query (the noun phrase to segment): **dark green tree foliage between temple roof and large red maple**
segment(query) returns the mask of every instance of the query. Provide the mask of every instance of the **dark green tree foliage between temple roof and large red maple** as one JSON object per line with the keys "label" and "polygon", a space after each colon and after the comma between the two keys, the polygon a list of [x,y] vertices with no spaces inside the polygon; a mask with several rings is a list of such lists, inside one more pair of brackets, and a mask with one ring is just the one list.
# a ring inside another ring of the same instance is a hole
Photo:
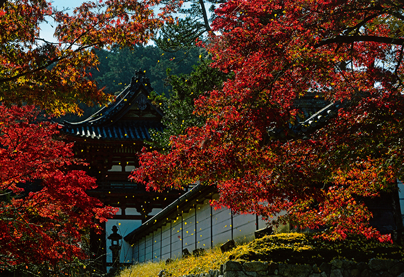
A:
{"label": "dark green tree foliage between temple roof and large red maple", "polygon": [[150,130],[155,146],[166,150],[171,136],[183,134],[188,127],[205,124],[205,117],[193,113],[194,100],[214,89],[221,89],[223,82],[231,76],[210,67],[210,63],[208,60],[200,60],[190,74],[171,75],[171,71],[167,71],[166,81],[172,86],[170,97],[158,94],[151,96],[156,105],[162,106],[165,114],[162,123],[167,127],[164,132]]}

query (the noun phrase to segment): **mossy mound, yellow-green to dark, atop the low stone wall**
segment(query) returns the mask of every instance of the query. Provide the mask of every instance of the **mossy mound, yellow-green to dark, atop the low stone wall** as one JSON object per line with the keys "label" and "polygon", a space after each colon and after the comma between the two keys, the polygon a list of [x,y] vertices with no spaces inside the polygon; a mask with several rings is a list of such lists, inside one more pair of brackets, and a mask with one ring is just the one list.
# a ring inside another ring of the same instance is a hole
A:
{"label": "mossy mound, yellow-green to dark, atop the low stone wall", "polygon": [[404,250],[395,244],[359,236],[350,236],[344,241],[325,241],[314,238],[313,234],[288,233],[266,236],[239,246],[229,257],[233,260],[310,264],[330,262],[335,258],[357,262],[367,262],[371,258],[403,259]]}

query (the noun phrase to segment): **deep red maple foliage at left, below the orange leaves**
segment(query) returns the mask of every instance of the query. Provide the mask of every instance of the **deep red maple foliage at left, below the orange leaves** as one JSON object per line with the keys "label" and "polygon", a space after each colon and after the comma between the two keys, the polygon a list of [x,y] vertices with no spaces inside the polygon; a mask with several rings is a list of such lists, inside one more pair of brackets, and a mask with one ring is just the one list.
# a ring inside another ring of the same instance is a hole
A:
{"label": "deep red maple foliage at left, below the orange leaves", "polygon": [[72,144],[40,119],[33,106],[0,105],[0,269],[88,258],[83,235],[115,213],[86,194],[95,180],[70,170]]}

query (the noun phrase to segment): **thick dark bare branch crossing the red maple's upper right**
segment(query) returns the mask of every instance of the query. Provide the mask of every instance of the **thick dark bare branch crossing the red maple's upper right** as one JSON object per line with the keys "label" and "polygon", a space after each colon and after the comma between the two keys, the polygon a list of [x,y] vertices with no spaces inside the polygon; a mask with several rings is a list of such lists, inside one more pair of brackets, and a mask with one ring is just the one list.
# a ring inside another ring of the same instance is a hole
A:
{"label": "thick dark bare branch crossing the red maple's upper right", "polygon": [[404,38],[392,38],[392,37],[383,37],[383,36],[336,36],[334,38],[327,38],[323,41],[316,43],[314,45],[315,48],[332,44],[332,43],[353,43],[353,42],[380,42],[385,44],[394,44],[394,45],[403,45]]}

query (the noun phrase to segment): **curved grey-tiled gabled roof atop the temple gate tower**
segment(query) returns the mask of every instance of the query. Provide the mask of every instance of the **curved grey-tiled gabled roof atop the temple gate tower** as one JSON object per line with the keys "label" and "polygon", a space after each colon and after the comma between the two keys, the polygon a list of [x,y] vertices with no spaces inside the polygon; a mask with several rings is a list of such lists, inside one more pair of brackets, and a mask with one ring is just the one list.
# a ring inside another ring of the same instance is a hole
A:
{"label": "curved grey-tiled gabled roof atop the temple gate tower", "polygon": [[148,99],[153,91],[141,70],[117,97],[81,122],[63,122],[62,131],[70,136],[98,140],[149,140],[149,129],[163,131],[163,112]]}

